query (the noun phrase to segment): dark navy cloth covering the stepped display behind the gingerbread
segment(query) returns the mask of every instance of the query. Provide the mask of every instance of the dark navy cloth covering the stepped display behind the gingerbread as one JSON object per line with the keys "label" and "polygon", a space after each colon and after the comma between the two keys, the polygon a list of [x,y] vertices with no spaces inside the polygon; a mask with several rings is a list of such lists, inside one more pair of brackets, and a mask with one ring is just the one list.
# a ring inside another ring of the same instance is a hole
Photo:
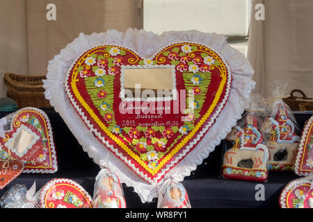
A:
{"label": "dark navy cloth covering the stepped display behind the gingerbread", "polygon": [[[54,109],[44,110],[54,133],[54,143],[58,158],[58,171],[53,174],[22,173],[0,191],[0,196],[15,184],[25,184],[27,189],[36,182],[37,190],[53,178],[67,178],[79,183],[90,196],[93,196],[95,176],[99,167],[87,153],[83,151],[77,139],[72,135],[67,125]],[[9,112],[0,112],[0,118]],[[303,125],[311,114],[295,114],[302,130]],[[295,173],[269,173],[268,182],[264,185],[265,200],[256,200],[255,194],[259,182],[240,180],[225,180],[220,178],[220,166],[223,156],[223,142],[216,146],[200,166],[184,179],[182,184],[188,192],[192,207],[266,207],[278,208],[280,192],[288,182],[298,178]],[[132,187],[123,184],[127,207],[157,207],[157,198],[152,203],[142,203]]]}

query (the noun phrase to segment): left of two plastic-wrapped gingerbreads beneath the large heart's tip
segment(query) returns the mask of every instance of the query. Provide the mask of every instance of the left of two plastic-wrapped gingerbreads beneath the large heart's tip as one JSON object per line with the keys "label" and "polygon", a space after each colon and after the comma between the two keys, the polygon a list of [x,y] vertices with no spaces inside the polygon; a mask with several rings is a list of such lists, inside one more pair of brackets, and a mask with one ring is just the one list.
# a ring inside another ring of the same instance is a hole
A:
{"label": "left of two plastic-wrapped gingerbreads beneath the large heart's tip", "polygon": [[94,208],[126,208],[120,179],[109,169],[102,169],[95,180]]}

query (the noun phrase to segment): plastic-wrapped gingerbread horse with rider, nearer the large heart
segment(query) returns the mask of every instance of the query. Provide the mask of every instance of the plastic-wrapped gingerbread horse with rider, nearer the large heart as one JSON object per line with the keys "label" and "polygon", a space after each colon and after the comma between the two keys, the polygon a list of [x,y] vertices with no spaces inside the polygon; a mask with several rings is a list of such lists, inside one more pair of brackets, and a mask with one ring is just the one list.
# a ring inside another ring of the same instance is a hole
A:
{"label": "plastic-wrapped gingerbread horse with rider, nearer the large heart", "polygon": [[264,99],[252,95],[250,108],[243,114],[224,142],[223,178],[266,182],[268,178],[268,148],[259,130],[264,113]]}

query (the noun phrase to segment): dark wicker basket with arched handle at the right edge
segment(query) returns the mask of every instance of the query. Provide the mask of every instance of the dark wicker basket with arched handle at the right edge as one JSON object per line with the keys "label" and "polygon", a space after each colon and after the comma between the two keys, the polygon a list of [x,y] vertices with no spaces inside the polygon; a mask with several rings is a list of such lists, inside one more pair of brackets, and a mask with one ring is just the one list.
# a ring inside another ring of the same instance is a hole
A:
{"label": "dark wicker basket with arched handle at the right edge", "polygon": [[[302,97],[294,96],[295,92],[302,94]],[[291,91],[290,96],[284,99],[284,102],[290,106],[293,111],[312,111],[313,110],[313,98],[309,98],[300,89],[294,89]]]}

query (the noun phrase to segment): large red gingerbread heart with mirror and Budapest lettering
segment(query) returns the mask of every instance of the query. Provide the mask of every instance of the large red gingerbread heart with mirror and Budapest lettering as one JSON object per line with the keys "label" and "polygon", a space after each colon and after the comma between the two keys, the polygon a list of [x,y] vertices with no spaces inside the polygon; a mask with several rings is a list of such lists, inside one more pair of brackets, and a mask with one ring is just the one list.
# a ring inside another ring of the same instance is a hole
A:
{"label": "large red gingerbread heart with mirror and Budapest lettering", "polygon": [[[95,137],[153,183],[183,160],[214,124],[231,81],[216,51],[182,42],[163,47],[150,59],[122,46],[93,47],[74,61],[65,86]],[[136,94],[142,92],[134,89],[136,83],[170,93],[143,98]]]}

